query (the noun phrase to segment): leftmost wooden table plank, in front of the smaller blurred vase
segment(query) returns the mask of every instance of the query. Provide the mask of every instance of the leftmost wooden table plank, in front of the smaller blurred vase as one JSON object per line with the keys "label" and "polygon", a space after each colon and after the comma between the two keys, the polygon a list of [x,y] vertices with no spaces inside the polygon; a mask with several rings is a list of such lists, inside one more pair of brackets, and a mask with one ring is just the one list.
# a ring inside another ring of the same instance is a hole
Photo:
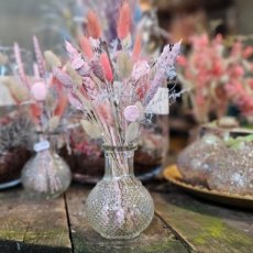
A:
{"label": "leftmost wooden table plank, in front of the smaller blurred vase", "polygon": [[72,252],[65,201],[0,194],[0,252]]}

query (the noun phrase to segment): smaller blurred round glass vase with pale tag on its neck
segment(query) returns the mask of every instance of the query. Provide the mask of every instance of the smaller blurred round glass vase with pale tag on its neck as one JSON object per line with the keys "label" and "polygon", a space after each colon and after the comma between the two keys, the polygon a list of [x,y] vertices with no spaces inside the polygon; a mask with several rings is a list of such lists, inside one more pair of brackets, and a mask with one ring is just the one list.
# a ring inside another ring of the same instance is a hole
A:
{"label": "smaller blurred round glass vase with pale tag on its neck", "polygon": [[56,153],[57,136],[38,133],[38,142],[34,145],[36,153],[22,169],[22,185],[34,196],[55,198],[70,185],[70,169]]}

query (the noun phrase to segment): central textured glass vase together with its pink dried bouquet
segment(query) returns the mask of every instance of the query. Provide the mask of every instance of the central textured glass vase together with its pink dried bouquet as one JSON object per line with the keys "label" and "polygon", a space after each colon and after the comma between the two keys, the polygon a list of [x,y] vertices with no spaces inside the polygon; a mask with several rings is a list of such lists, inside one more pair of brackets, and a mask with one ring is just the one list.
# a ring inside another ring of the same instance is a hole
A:
{"label": "central textured glass vase together with its pink dried bouquet", "polygon": [[69,65],[64,73],[54,68],[65,85],[69,102],[84,112],[82,125],[91,138],[101,138],[106,173],[87,198],[90,226],[109,239],[131,239],[152,221],[154,204],[133,174],[133,155],[140,136],[140,123],[153,113],[168,113],[169,96],[162,88],[175,77],[174,63],[179,45],[165,46],[155,62],[142,55],[142,42],[130,35],[131,11],[127,2],[120,9],[118,38],[110,45],[102,40],[97,15],[87,16],[88,36],[80,50],[66,42]]}

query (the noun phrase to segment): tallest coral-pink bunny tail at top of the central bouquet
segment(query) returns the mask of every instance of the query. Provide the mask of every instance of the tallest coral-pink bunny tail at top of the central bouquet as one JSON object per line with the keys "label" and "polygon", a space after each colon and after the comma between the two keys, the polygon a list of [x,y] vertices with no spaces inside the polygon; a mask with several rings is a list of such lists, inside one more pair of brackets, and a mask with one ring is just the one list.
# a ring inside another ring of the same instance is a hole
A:
{"label": "tallest coral-pink bunny tail at top of the central bouquet", "polygon": [[117,33],[120,40],[125,38],[129,35],[131,25],[131,13],[129,3],[124,2],[120,9]]}

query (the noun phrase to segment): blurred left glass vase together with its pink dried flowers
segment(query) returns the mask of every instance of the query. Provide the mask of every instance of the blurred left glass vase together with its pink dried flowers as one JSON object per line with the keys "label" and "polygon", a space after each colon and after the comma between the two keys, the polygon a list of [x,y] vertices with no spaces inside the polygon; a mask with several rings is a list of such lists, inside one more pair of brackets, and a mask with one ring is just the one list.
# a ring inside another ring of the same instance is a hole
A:
{"label": "blurred left glass vase together with its pink dried flowers", "polygon": [[64,119],[68,99],[63,84],[52,73],[52,67],[64,69],[61,61],[51,51],[46,51],[43,57],[35,36],[33,44],[36,57],[33,76],[26,75],[20,47],[15,43],[16,79],[9,79],[7,85],[16,103],[26,105],[37,135],[33,146],[35,154],[21,173],[22,185],[32,195],[53,198],[64,193],[72,179],[68,165],[55,150],[58,133],[66,130]]}

